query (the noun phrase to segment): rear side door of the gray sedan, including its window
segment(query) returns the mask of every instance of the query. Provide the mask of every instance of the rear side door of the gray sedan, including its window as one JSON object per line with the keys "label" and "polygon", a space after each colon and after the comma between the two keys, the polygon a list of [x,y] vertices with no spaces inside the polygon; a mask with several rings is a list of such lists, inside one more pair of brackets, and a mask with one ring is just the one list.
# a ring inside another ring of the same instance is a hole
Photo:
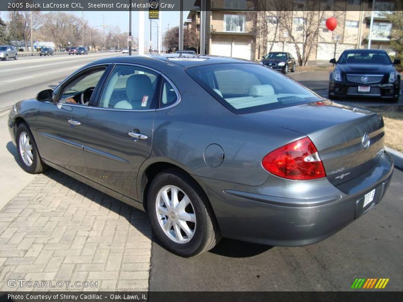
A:
{"label": "rear side door of the gray sedan, including its window", "polygon": [[139,168],[151,155],[160,77],[146,67],[116,64],[86,119],[90,179],[135,200]]}

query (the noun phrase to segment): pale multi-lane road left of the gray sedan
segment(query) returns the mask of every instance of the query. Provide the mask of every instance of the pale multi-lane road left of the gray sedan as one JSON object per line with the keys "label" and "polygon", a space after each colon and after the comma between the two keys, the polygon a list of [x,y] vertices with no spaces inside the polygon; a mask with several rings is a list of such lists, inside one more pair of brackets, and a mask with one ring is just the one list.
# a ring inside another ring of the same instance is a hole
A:
{"label": "pale multi-lane road left of the gray sedan", "polygon": [[0,109],[35,97],[41,90],[54,88],[75,70],[94,60],[122,55],[120,52],[89,55],[24,57],[0,61]]}

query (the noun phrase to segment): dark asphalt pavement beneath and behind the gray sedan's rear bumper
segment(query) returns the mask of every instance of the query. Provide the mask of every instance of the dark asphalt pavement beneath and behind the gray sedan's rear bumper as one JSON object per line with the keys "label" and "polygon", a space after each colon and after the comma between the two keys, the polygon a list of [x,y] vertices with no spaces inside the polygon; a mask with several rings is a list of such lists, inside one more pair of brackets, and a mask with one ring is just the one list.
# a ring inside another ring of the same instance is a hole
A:
{"label": "dark asphalt pavement beneath and behind the gray sedan's rear bumper", "polygon": [[355,278],[390,278],[387,290],[403,290],[402,183],[403,173],[395,170],[375,208],[310,246],[268,247],[224,239],[210,252],[181,258],[154,238],[150,290],[345,291]]}

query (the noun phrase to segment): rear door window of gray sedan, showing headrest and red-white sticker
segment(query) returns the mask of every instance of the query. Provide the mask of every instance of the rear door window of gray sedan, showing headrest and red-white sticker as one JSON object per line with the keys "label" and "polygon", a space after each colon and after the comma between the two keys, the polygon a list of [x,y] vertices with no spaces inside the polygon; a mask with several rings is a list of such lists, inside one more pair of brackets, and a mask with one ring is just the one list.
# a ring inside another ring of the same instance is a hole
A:
{"label": "rear door window of gray sedan, showing headrest and red-white sticker", "polygon": [[138,66],[116,65],[102,92],[99,107],[124,110],[156,108],[159,75]]}

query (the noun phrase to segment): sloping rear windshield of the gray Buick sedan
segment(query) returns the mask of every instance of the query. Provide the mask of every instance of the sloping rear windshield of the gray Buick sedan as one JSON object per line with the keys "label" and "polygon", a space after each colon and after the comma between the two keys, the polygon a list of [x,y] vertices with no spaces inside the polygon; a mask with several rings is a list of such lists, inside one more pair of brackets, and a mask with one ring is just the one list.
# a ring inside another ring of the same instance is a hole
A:
{"label": "sloping rear windshield of the gray Buick sedan", "polygon": [[322,99],[280,72],[258,64],[201,65],[189,67],[186,71],[201,87],[236,114]]}

